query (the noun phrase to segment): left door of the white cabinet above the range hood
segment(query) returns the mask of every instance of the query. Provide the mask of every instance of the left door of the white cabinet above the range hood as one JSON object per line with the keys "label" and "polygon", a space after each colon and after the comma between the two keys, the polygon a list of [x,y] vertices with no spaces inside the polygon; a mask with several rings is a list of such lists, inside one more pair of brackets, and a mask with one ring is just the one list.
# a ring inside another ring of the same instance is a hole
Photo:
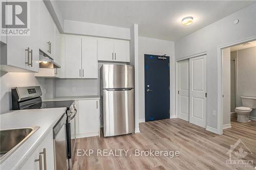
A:
{"label": "left door of the white cabinet above the range hood", "polygon": [[39,48],[43,52],[50,55],[50,45],[49,45],[49,20],[50,14],[43,1],[39,1]]}

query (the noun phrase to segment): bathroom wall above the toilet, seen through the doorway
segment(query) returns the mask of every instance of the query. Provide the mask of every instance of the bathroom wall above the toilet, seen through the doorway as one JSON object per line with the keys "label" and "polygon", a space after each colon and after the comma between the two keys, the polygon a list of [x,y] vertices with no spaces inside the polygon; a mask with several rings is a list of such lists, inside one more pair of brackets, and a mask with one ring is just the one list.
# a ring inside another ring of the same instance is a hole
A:
{"label": "bathroom wall above the toilet, seen through the doorway", "polygon": [[[238,95],[237,106],[242,106],[240,96],[256,97],[256,47],[239,50],[238,60]],[[256,118],[256,109],[250,116]]]}

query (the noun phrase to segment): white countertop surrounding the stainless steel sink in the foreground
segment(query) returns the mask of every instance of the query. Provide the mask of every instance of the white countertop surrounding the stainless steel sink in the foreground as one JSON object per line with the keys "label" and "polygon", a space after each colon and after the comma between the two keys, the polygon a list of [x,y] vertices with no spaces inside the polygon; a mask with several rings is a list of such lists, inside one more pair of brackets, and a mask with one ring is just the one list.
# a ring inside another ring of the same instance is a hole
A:
{"label": "white countertop surrounding the stainless steel sink in the foreground", "polygon": [[10,111],[0,115],[0,129],[24,128],[39,126],[20,147],[14,151],[4,162],[0,169],[19,169],[33,154],[40,142],[48,135],[65,113],[67,108],[32,109]]}

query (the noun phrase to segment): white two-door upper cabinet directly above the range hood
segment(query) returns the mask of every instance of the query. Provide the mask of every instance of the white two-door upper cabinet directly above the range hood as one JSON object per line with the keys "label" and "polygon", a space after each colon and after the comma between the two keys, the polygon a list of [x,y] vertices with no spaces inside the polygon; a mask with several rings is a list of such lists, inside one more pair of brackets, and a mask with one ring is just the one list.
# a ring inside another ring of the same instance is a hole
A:
{"label": "white two-door upper cabinet directly above the range hood", "polygon": [[39,48],[51,58],[54,58],[54,33],[55,27],[53,19],[45,3],[39,1]]}

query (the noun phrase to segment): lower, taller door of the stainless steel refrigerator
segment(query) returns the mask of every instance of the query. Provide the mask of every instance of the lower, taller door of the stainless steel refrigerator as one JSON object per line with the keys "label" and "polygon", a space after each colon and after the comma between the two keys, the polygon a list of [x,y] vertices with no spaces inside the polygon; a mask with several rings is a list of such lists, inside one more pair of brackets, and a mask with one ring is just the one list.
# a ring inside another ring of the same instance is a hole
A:
{"label": "lower, taller door of the stainless steel refrigerator", "polygon": [[104,136],[135,132],[134,89],[103,90]]}

